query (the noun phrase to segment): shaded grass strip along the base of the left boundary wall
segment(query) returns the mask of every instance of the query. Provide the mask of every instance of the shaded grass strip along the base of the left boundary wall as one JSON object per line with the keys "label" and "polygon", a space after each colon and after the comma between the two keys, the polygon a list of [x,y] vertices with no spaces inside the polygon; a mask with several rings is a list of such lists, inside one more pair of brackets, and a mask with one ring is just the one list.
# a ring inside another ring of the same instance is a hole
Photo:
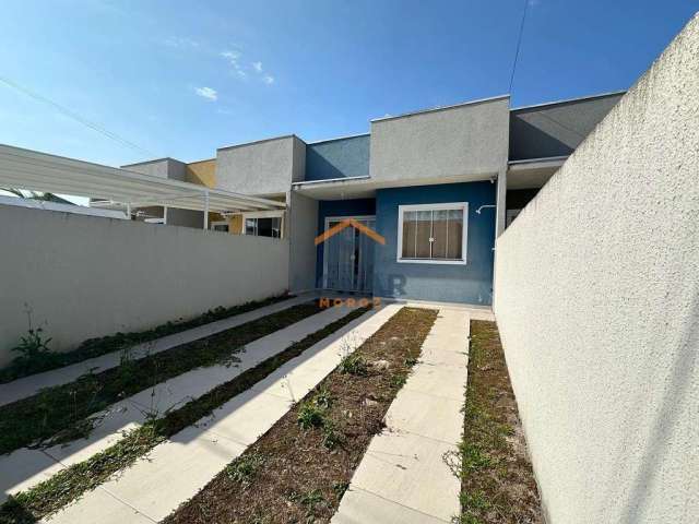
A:
{"label": "shaded grass strip along the base of the left boundary wall", "polygon": [[264,300],[254,300],[229,308],[220,306],[192,319],[178,319],[176,321],[157,325],[151,330],[134,331],[130,333],[115,333],[109,336],[88,338],[72,352],[44,352],[42,353],[40,358],[25,358],[21,356],[15,358],[10,366],[0,369],[0,384],[12,382],[13,380],[22,379],[31,374],[62,368],[63,366],[70,366],[71,364],[82,362],[88,358],[99,357],[107,353],[118,352],[126,347],[135,346],[137,344],[151,342],[163,336],[191,330],[192,327],[227,319],[236,314],[246,313],[289,298],[292,298],[292,295],[280,295],[276,297],[265,298]]}

